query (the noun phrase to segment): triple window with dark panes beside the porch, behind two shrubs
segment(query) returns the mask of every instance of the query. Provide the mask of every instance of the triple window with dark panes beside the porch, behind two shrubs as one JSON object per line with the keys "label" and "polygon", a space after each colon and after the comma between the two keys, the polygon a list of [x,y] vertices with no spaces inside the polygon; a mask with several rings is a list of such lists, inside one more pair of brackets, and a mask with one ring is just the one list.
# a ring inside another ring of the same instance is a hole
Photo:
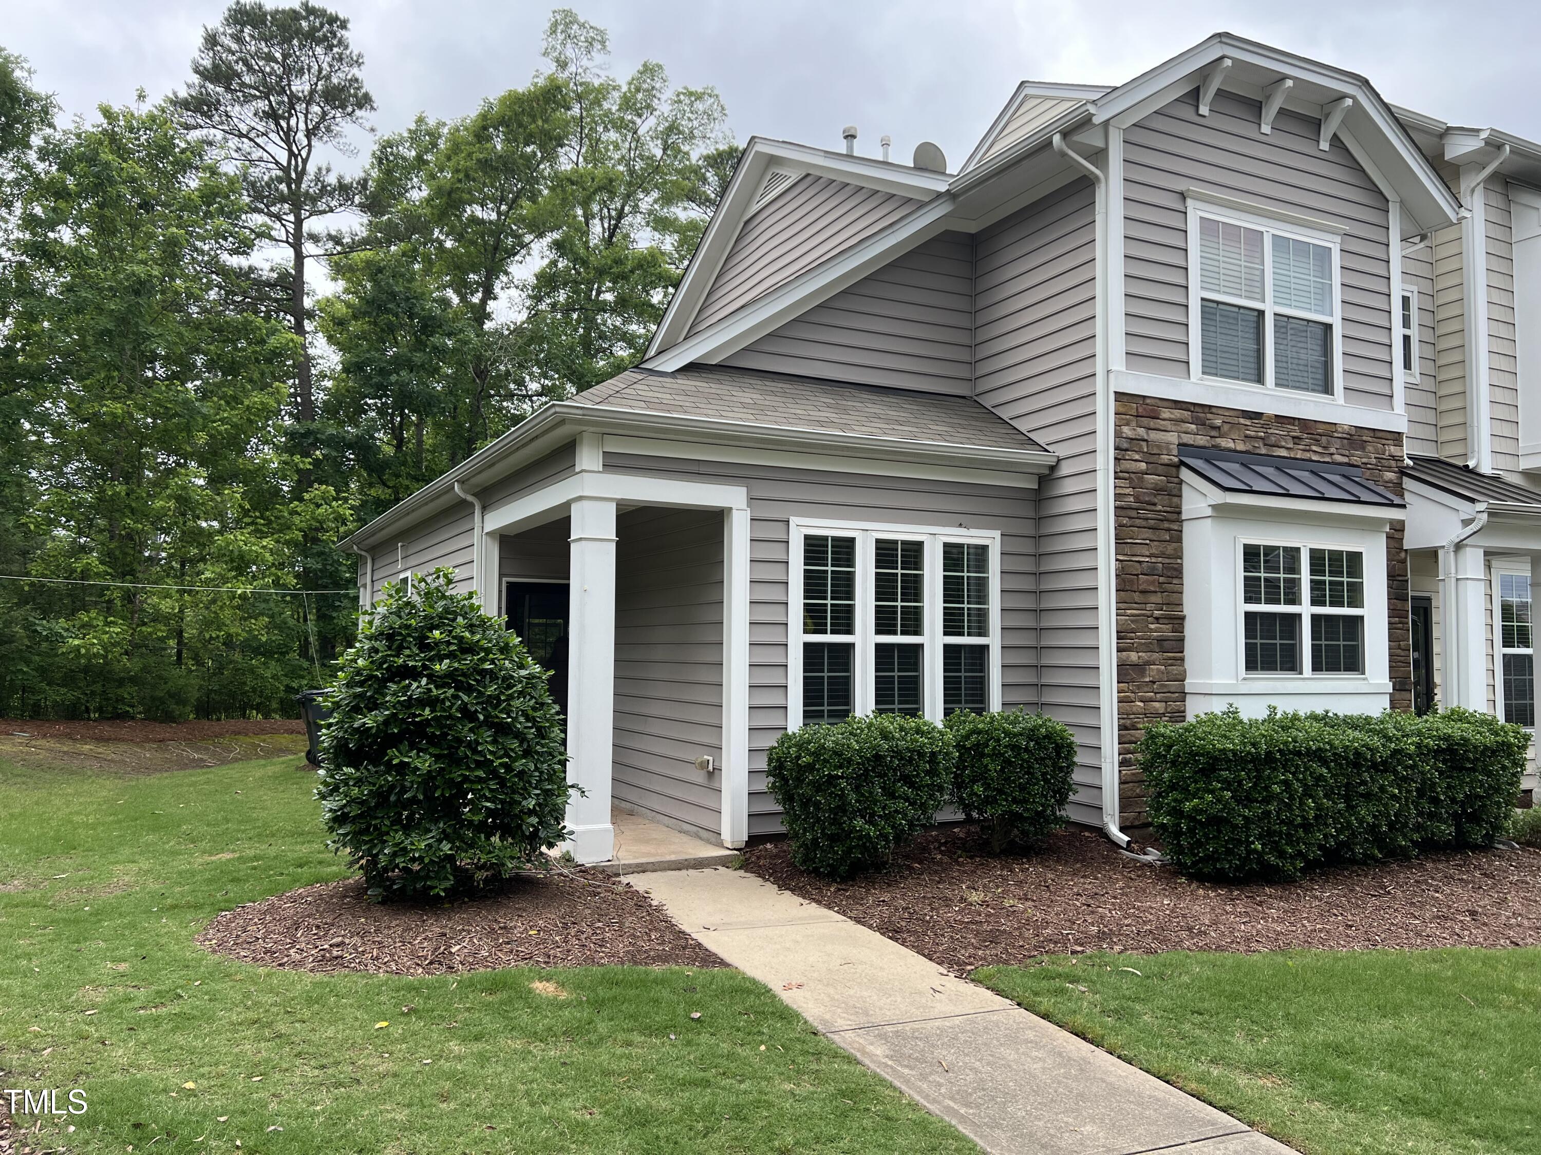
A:
{"label": "triple window with dark panes beside the porch, behind two shrubs", "polygon": [[792,522],[792,725],[999,708],[999,537]]}

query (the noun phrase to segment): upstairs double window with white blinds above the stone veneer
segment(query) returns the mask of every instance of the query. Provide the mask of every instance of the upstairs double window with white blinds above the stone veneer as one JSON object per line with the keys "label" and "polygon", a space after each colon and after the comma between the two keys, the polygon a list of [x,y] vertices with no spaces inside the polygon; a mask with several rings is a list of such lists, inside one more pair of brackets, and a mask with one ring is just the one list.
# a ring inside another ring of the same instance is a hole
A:
{"label": "upstairs double window with white blinds above the stone veneer", "polygon": [[1190,200],[1199,379],[1339,396],[1338,239]]}

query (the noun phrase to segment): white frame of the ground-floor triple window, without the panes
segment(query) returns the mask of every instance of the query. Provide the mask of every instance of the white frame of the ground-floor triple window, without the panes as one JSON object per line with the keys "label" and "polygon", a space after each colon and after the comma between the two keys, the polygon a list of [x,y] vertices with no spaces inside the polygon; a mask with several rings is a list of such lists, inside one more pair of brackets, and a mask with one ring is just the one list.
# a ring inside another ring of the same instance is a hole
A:
{"label": "white frame of the ground-floor triple window, without the panes", "polygon": [[[803,633],[803,537],[832,536],[857,539],[855,634]],[[872,605],[874,570],[878,537],[925,542],[925,633],[881,638],[875,633]],[[942,721],[942,654],[945,645],[980,645],[989,648],[986,662],[986,708],[1002,708],[1000,687],[1000,531],[960,530],[942,525],[889,525],[885,522],[828,521],[821,517],[791,517],[787,522],[787,654],[786,654],[786,728],[803,725],[803,644],[852,642],[852,713],[869,715],[875,707],[874,647],[877,644],[912,642],[923,645],[922,693],[923,716]],[[989,636],[946,638],[942,633],[942,547],[946,542],[989,547]]]}

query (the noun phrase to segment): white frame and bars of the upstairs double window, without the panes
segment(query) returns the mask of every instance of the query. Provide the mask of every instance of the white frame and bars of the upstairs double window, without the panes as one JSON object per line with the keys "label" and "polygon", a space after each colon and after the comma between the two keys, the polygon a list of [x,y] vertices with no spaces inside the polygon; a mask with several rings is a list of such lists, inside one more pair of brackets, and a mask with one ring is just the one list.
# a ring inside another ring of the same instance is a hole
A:
{"label": "white frame and bars of the upstairs double window, without the panes", "polygon": [[[1216,220],[1222,223],[1237,223],[1242,228],[1250,228],[1264,234],[1264,285],[1265,299],[1254,300],[1245,296],[1233,296],[1228,293],[1213,291],[1204,286],[1204,222]],[[1328,242],[1322,237],[1302,236],[1299,231],[1291,229],[1287,222],[1279,222],[1277,225],[1268,222],[1267,219],[1259,220],[1239,220],[1233,222],[1227,216],[1225,209],[1214,208],[1202,202],[1190,200],[1188,213],[1190,229],[1200,234],[1197,243],[1190,242],[1190,334],[1188,334],[1188,359],[1190,371],[1196,379],[1200,380],[1217,380],[1224,383],[1244,383],[1244,385],[1262,385],[1264,388],[1284,388],[1290,393],[1304,393],[1305,396],[1325,397],[1328,400],[1342,399],[1342,354],[1341,354],[1341,331],[1338,326],[1338,313],[1341,311],[1342,299],[1342,270],[1339,253],[1341,246],[1335,242]],[[1301,242],[1304,245],[1311,245],[1314,248],[1324,248],[1328,254],[1328,268],[1331,273],[1331,283],[1328,291],[1328,313],[1313,313],[1310,310],[1301,310],[1290,305],[1284,305],[1274,300],[1274,239],[1287,239],[1291,243]],[[1262,380],[1251,380],[1245,377],[1225,377],[1210,373],[1204,359],[1208,353],[1204,328],[1204,303],[1205,302],[1220,302],[1225,305],[1247,308],[1262,313]],[[1325,346],[1327,346],[1327,390],[1311,391],[1290,388],[1287,385],[1279,385],[1277,370],[1276,370],[1276,350],[1274,350],[1274,319],[1276,317],[1296,317],[1307,322],[1314,322],[1325,326]],[[1197,333],[1197,342],[1194,342],[1194,331]]]}

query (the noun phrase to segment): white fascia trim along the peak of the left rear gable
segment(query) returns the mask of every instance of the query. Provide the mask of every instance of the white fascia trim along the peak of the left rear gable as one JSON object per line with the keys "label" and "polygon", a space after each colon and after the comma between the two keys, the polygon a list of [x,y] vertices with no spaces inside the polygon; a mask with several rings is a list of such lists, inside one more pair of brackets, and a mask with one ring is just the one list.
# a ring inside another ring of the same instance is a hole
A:
{"label": "white fascia trim along the peak of the left rear gable", "polygon": [[843,180],[863,188],[875,188],[883,192],[925,199],[945,192],[951,177],[945,172],[929,172],[908,165],[875,160],[872,157],[855,157],[843,152],[831,152],[809,145],[797,145],[787,140],[767,140],[750,137],[744,146],[744,156],[734,171],[723,203],[701,236],[680,279],[680,288],[669,300],[663,320],[647,345],[647,356],[652,357],[660,350],[681,340],[695,320],[697,310],[706,297],[707,290],[717,279],[723,262],[727,259],[738,233],[743,229],[755,208],[755,194],[764,182],[764,174],[774,166],[792,168],[798,172],[812,172],[832,180]]}

